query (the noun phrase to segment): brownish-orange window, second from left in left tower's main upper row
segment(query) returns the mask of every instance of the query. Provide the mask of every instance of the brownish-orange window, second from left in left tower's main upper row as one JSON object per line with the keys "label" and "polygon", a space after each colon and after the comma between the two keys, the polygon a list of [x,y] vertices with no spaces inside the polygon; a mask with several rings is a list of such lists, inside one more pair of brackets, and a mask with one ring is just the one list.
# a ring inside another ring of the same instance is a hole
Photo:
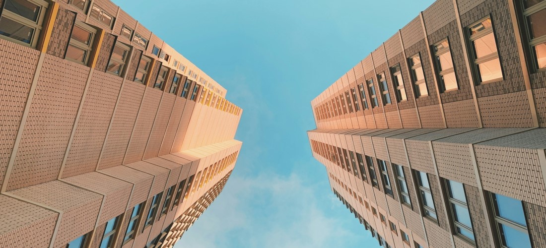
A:
{"label": "brownish-orange window, second from left in left tower's main upper row", "polygon": [[65,58],[80,64],[87,64],[91,51],[93,50],[93,40],[97,29],[91,26],[76,21],[70,36]]}

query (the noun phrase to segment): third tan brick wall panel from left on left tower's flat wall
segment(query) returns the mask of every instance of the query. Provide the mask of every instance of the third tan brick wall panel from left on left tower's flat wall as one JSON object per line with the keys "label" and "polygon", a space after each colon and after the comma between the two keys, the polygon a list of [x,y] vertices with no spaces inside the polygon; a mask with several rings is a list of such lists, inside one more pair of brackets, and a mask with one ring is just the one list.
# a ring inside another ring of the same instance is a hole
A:
{"label": "third tan brick wall panel from left on left tower's flat wall", "polygon": [[117,96],[120,94],[121,82],[121,77],[106,72],[93,72],[63,178],[96,169]]}

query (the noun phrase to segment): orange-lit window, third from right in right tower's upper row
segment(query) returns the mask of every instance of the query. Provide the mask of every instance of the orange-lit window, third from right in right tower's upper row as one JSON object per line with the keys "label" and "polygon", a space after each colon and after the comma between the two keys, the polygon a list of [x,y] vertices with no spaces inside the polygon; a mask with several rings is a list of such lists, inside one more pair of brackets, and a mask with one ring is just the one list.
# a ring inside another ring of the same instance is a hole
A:
{"label": "orange-lit window, third from right in right tower's upper row", "polygon": [[453,69],[453,59],[451,57],[451,50],[449,49],[449,41],[445,39],[434,45],[434,53],[442,92],[458,89],[459,86],[455,76],[455,69]]}

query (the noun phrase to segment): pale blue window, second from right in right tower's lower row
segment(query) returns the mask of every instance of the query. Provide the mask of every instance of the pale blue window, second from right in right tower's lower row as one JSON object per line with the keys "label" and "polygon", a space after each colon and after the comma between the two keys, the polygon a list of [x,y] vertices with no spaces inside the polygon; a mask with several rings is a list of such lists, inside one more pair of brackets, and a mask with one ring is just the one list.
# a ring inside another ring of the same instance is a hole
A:
{"label": "pale blue window, second from right in right tower's lower row", "polygon": [[464,186],[461,183],[446,180],[446,188],[455,233],[474,242],[472,221],[468,212]]}

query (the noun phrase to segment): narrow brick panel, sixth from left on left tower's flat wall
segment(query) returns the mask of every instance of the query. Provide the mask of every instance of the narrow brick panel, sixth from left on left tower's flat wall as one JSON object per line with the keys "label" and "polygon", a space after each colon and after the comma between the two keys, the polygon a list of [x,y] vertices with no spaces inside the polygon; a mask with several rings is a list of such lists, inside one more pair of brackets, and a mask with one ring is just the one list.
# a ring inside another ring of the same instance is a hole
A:
{"label": "narrow brick panel, sixth from left on left tower's flat wall", "polygon": [[173,112],[175,100],[176,96],[173,94],[163,95],[159,110],[157,110],[156,121],[153,123],[150,140],[146,145],[144,159],[153,158],[158,155],[159,148],[161,148],[161,143],[163,142],[163,137],[165,136],[165,131],[167,130],[167,125],[169,124],[171,113]]}

